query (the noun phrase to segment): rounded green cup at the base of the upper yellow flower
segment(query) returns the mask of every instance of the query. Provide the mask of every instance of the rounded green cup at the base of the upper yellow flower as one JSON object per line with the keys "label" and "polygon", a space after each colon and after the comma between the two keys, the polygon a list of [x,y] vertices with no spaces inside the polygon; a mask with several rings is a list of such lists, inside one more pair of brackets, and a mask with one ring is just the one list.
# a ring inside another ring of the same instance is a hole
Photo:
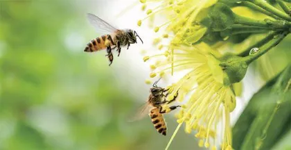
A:
{"label": "rounded green cup at the base of the upper yellow flower", "polygon": [[223,3],[216,3],[209,11],[212,31],[224,31],[234,24],[235,15],[231,8]]}

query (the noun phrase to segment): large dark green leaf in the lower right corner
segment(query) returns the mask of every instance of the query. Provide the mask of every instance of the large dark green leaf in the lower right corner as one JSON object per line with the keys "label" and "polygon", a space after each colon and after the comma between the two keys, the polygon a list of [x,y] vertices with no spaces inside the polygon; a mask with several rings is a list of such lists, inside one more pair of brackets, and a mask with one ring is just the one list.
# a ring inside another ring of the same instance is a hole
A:
{"label": "large dark green leaf in the lower right corner", "polygon": [[290,78],[291,66],[254,94],[233,127],[234,149],[270,149],[290,130]]}

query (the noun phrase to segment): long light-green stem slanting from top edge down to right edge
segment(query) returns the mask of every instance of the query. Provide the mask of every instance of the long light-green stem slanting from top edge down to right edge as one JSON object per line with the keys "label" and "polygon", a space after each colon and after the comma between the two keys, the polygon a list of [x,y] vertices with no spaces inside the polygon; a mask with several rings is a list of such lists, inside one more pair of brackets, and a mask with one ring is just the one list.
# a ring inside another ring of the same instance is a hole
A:
{"label": "long light-green stem slanting from top edge down to right edge", "polygon": [[270,5],[266,1],[263,1],[263,0],[247,0],[247,1],[250,1],[250,2],[256,4],[257,6],[260,6],[261,8],[263,8],[269,12],[272,12],[274,15],[276,15],[278,17],[281,17],[283,19],[291,21],[291,17],[289,15],[285,14],[284,12],[281,12],[277,8],[274,8],[272,5]]}

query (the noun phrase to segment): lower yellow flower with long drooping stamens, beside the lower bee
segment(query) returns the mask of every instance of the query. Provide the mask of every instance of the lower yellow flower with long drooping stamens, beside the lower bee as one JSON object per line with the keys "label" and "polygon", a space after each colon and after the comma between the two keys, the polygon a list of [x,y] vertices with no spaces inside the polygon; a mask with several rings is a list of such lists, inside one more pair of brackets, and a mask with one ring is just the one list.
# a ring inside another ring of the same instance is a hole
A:
{"label": "lower yellow flower with long drooping stamens, beside the lower bee", "polygon": [[[231,149],[229,115],[236,108],[236,98],[230,85],[224,85],[225,74],[218,60],[220,53],[203,42],[191,47],[172,46],[170,49],[175,49],[174,71],[186,73],[177,83],[170,85],[167,97],[171,100],[178,94],[177,101],[186,101],[176,115],[179,126],[185,124],[186,133],[195,131],[195,137],[200,139],[200,147],[216,149],[219,144],[218,132],[221,131],[218,126],[223,120],[222,149]],[[161,61],[155,66],[155,74],[169,74],[172,60],[160,56],[162,54],[150,57]]]}

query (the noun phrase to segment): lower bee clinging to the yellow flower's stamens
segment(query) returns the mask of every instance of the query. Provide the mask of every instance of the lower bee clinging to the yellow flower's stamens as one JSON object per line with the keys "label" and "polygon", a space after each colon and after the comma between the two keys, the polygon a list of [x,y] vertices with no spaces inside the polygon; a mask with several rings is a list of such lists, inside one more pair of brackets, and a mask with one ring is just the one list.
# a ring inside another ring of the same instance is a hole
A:
{"label": "lower bee clinging to the yellow flower's stamens", "polygon": [[[159,78],[160,80],[161,78]],[[152,88],[150,88],[150,96],[148,97],[147,103],[143,106],[143,109],[141,109],[141,112],[139,113],[139,118],[143,117],[143,115],[147,112],[147,110],[150,109],[150,113],[148,115],[152,119],[152,124],[154,124],[156,130],[161,133],[162,135],[167,134],[167,126],[164,119],[164,113],[169,113],[172,110],[175,110],[176,108],[179,108],[181,106],[170,106],[168,109],[163,108],[163,104],[168,104],[177,98],[177,94],[174,97],[174,99],[170,101],[166,101],[166,97],[168,96],[168,93],[165,94],[165,92],[168,92],[168,90],[158,87],[156,81]]]}

